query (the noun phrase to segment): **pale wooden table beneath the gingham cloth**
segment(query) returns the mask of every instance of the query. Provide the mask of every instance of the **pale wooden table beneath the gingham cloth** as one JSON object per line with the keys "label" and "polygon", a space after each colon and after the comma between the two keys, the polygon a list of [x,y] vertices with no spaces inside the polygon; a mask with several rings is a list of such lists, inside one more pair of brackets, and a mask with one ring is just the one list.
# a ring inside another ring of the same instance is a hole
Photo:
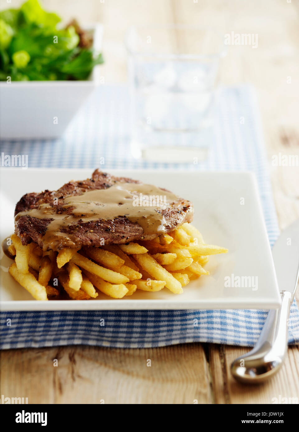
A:
{"label": "pale wooden table beneath the gingham cloth", "polygon": [[[16,3],[16,2],[15,2]],[[122,44],[128,25],[180,22],[223,33],[258,34],[258,47],[231,46],[220,81],[257,89],[280,228],[299,217],[299,168],[273,167],[272,156],[299,154],[299,6],[286,0],[44,0],[67,20],[105,26],[103,76],[126,80]],[[83,4],[84,3],[84,4]],[[241,114],[240,114],[241,115]],[[299,299],[299,297],[297,297]],[[155,349],[66,346],[1,353],[1,394],[29,403],[272,403],[299,397],[299,346],[257,387],[237,384],[230,363],[248,348],[190,343]],[[53,367],[58,359],[58,367]],[[151,359],[151,367],[147,367]]]}

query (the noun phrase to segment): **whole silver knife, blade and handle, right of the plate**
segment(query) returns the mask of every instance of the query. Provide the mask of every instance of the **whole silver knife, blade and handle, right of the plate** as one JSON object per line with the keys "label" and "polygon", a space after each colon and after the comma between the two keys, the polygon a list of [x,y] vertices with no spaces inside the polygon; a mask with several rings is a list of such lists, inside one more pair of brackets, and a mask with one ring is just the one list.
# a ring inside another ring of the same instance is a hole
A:
{"label": "whole silver knife, blade and handle, right of the plate", "polygon": [[299,220],[289,226],[272,249],[281,306],[270,310],[260,337],[249,353],[231,364],[231,374],[243,383],[260,383],[279,371],[286,356],[289,310],[299,277]]}

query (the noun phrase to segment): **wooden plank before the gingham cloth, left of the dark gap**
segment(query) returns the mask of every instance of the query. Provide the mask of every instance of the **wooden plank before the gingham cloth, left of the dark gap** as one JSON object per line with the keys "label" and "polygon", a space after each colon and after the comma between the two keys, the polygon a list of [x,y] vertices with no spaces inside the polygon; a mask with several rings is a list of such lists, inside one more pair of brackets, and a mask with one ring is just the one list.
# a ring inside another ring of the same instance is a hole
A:
{"label": "wooden plank before the gingham cloth, left of the dark gap", "polygon": [[[53,359],[58,359],[57,367]],[[199,343],[154,349],[15,349],[1,353],[1,366],[2,394],[28,397],[29,403],[213,402]]]}

